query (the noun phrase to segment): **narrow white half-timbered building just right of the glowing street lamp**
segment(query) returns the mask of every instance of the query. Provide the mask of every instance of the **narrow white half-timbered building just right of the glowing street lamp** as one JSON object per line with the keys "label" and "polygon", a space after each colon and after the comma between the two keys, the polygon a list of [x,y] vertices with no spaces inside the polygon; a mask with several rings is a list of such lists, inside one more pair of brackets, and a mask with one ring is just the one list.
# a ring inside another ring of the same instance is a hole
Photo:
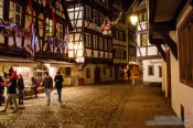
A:
{"label": "narrow white half-timbered building just right of the glowing street lamp", "polygon": [[[143,0],[138,8],[135,9],[138,15],[137,25],[137,60],[142,64],[143,82],[161,83],[162,82],[162,57],[156,45],[149,42],[148,29],[148,6]],[[160,45],[161,46],[161,45]]]}

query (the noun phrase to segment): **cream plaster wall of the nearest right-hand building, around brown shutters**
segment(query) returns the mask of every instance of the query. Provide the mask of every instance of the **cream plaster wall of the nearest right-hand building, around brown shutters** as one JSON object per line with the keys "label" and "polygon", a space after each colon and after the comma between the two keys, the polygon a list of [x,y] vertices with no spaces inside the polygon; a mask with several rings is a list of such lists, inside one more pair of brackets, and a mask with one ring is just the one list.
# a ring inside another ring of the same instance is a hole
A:
{"label": "cream plaster wall of the nearest right-hand building, around brown shutters", "polygon": [[[184,18],[192,10],[191,6],[184,8],[182,14],[178,20],[178,28],[184,20]],[[178,32],[171,32],[171,38],[176,41]],[[178,41],[176,41],[178,42]],[[184,118],[185,118],[185,128],[193,128],[193,88],[180,83],[180,70],[179,61],[174,58],[171,53],[171,83],[172,83],[172,108],[175,114],[181,116],[181,105],[184,106]]]}

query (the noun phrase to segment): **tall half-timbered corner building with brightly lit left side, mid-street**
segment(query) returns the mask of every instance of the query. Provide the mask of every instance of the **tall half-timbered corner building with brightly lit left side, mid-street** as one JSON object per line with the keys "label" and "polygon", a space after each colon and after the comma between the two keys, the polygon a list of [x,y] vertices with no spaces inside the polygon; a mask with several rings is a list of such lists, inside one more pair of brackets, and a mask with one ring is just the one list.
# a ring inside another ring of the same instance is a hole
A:
{"label": "tall half-timbered corner building with brightly lit left side, mid-street", "polygon": [[101,24],[109,14],[107,0],[67,2],[74,31],[69,33],[68,56],[77,64],[79,79],[84,84],[114,79],[112,39],[104,35]]}

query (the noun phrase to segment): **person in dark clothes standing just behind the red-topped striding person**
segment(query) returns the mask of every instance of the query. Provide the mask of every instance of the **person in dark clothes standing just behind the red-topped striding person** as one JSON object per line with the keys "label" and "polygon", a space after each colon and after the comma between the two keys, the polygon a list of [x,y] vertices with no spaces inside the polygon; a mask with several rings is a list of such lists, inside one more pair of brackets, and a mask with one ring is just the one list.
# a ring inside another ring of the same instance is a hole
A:
{"label": "person in dark clothes standing just behind the red-topped striding person", "polygon": [[23,89],[24,89],[24,83],[22,75],[19,75],[18,78],[18,90],[19,90],[19,104],[23,105]]}

